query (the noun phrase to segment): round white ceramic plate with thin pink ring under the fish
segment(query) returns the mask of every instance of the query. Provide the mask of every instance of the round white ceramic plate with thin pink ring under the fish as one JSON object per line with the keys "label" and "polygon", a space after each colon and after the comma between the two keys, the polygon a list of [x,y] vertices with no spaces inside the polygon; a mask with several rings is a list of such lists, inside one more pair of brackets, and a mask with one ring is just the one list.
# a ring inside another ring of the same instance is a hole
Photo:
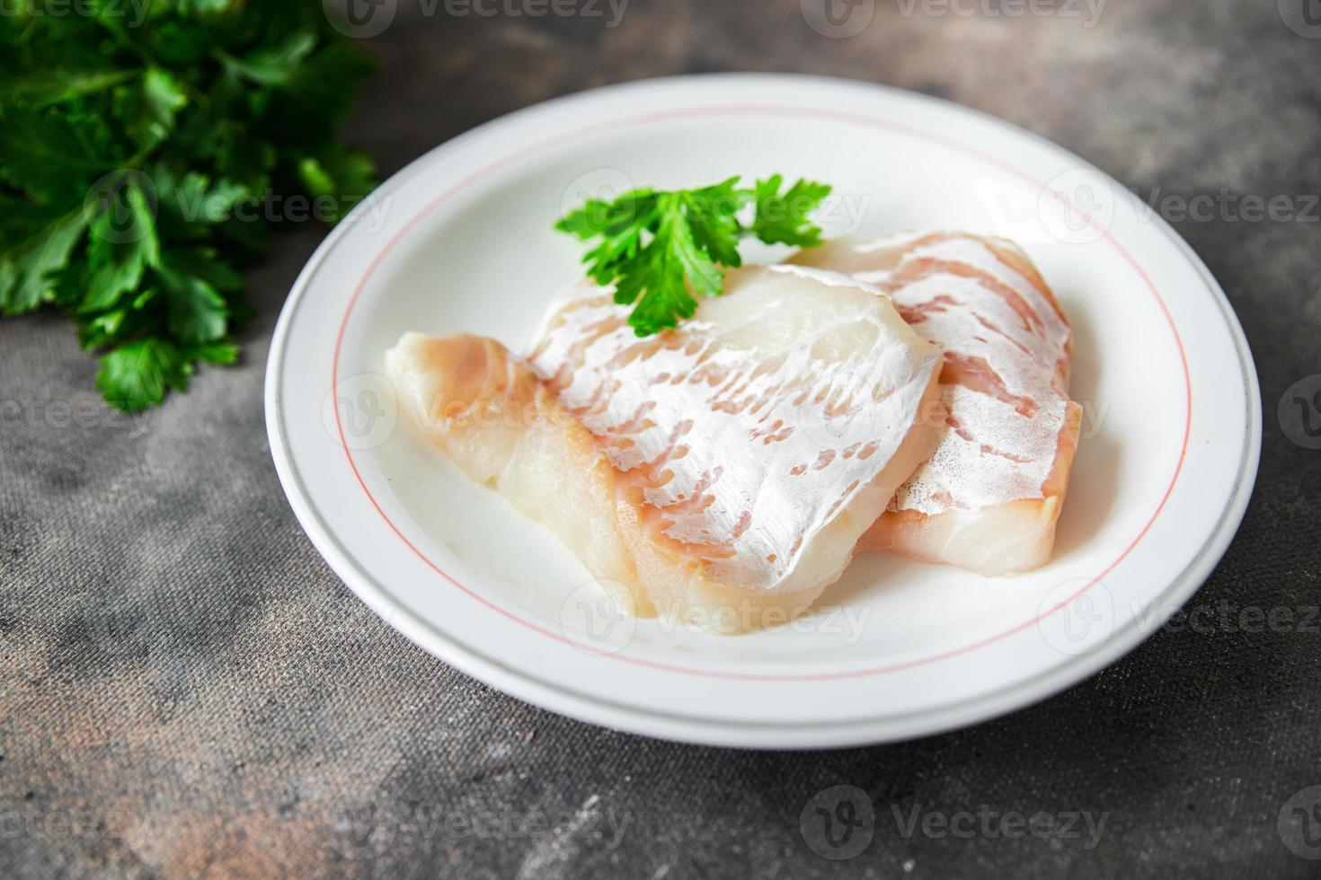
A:
{"label": "round white ceramic plate with thin pink ring under the fish", "polygon": [[[382,354],[407,330],[524,350],[579,274],[580,245],[551,224],[588,194],[773,172],[835,185],[828,234],[963,228],[1013,237],[1037,261],[1073,321],[1073,396],[1087,410],[1055,557],[1016,579],[859,557],[812,617],[733,639],[593,620],[581,565],[396,417]],[[931,734],[1115,661],[1232,537],[1259,413],[1223,293],[1118,183],[963,107],[779,75],[601,88],[432,150],[308,263],[267,376],[271,447],[299,520],[395,628],[552,711],[741,747]]]}

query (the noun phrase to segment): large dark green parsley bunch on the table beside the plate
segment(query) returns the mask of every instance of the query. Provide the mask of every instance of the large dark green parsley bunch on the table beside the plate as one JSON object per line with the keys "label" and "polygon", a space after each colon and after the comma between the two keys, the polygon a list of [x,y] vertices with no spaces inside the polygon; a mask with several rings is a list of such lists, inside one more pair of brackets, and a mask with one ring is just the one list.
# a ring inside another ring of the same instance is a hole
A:
{"label": "large dark green parsley bunch on the table beside the plate", "polygon": [[373,65],[318,3],[9,0],[0,57],[0,313],[65,310],[119,409],[236,359],[285,197],[334,222],[373,186],[336,135]]}

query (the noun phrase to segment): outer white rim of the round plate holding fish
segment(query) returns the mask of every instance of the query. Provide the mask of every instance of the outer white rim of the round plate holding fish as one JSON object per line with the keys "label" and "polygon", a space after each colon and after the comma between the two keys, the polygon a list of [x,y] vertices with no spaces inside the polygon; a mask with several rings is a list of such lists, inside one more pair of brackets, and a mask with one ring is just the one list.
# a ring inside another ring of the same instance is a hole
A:
{"label": "outer white rim of the round plate holding fish", "polygon": [[[762,86],[773,86],[777,82],[781,84],[814,83],[827,88],[844,87],[849,90],[876,90],[878,92],[885,92],[892,98],[927,102],[943,107],[947,111],[976,116],[984,123],[989,123],[1007,131],[1007,133],[1020,137],[1028,136],[1038,144],[1048,146],[1059,154],[1067,156],[1070,160],[1075,161],[1079,168],[1103,174],[1107,181],[1115,182],[1114,178],[1104,174],[1104,172],[1095,169],[1090,162],[1086,162],[1070,150],[1041,135],[1022,129],[1012,123],[975,108],[933,98],[930,95],[923,95],[921,92],[869,83],[865,80],[832,77],[798,74],[695,74],[601,86],[571,95],[557,96],[499,116],[423,153],[420,157],[391,175],[386,183],[378,187],[373,197],[383,198],[391,190],[406,186],[407,182],[419,172],[424,168],[429,168],[433,162],[441,160],[445,153],[458,148],[462,142],[466,142],[480,135],[490,133],[495,128],[509,124],[526,113],[544,112],[548,107],[567,103],[589,102],[592,98],[600,96],[604,92],[620,94],[621,91],[630,90],[664,88],[667,86],[694,83],[695,80],[700,80],[704,86],[712,84],[713,80],[723,80],[734,86],[748,84],[750,82]],[[1115,182],[1115,185],[1118,191],[1127,193],[1127,190],[1119,186],[1118,182]],[[1128,193],[1128,197],[1133,199],[1137,198],[1131,193]],[[365,199],[362,204],[355,207],[355,211],[365,210],[369,201],[370,199]],[[333,230],[309,257],[306,265],[303,268],[291,288],[289,296],[285,299],[272,335],[271,351],[267,358],[264,397],[267,434],[272,458],[275,459],[276,472],[281,487],[289,499],[291,507],[293,508],[295,515],[309,540],[312,540],[313,546],[316,546],[318,553],[321,553],[321,555],[330,563],[332,569],[350,587],[350,590],[353,590],[375,613],[382,616],[391,627],[402,632],[406,637],[425,649],[428,653],[456,666],[465,674],[486,682],[519,699],[542,706],[551,711],[569,715],[589,723],[606,724],[609,727],[642,735],[662,736],[666,739],[707,745],[717,744],[754,748],[828,748],[872,744],[896,739],[908,739],[917,735],[935,734],[987,720],[989,718],[1022,708],[1083,681],[1085,678],[1095,674],[1099,669],[1114,664],[1116,660],[1129,653],[1137,644],[1152,635],[1159,628],[1159,624],[1164,624],[1165,620],[1168,620],[1184,603],[1188,602],[1188,599],[1201,587],[1206,577],[1209,577],[1210,571],[1219,562],[1225,550],[1229,548],[1229,544],[1232,541],[1239,524],[1242,522],[1251,497],[1252,487],[1256,479],[1258,463],[1260,459],[1262,443],[1260,389],[1251,350],[1247,344],[1246,335],[1243,334],[1242,325],[1232,311],[1229,298],[1215,281],[1214,276],[1206,268],[1205,263],[1162,218],[1155,215],[1153,219],[1156,220],[1153,226],[1159,228],[1172,244],[1174,244],[1176,251],[1181,253],[1185,260],[1188,260],[1192,268],[1206,284],[1207,290],[1211,293],[1213,299],[1215,299],[1217,306],[1219,307],[1221,318],[1225,321],[1226,327],[1230,331],[1230,336],[1234,340],[1239,372],[1244,387],[1244,398],[1247,401],[1247,437],[1243,446],[1243,454],[1239,460],[1238,474],[1234,478],[1234,489],[1230,495],[1229,503],[1221,512],[1215,528],[1211,529],[1210,534],[1205,538],[1201,548],[1185,569],[1153,595],[1153,599],[1159,600],[1160,604],[1155,606],[1156,613],[1148,617],[1147,623],[1155,623],[1157,625],[1152,625],[1149,628],[1140,627],[1136,620],[1127,620],[1122,628],[1110,633],[1106,643],[1096,650],[1078,656],[1062,657],[1059,662],[1040,670],[1037,674],[1026,679],[985,690],[979,693],[976,697],[959,703],[937,708],[911,710],[901,714],[886,714],[884,716],[856,719],[852,722],[779,722],[774,726],[768,726],[764,722],[746,722],[745,724],[740,724],[728,719],[711,719],[700,715],[686,716],[672,711],[639,708],[630,705],[616,703],[608,698],[583,693],[576,689],[565,687],[560,682],[540,678],[530,674],[527,670],[515,670],[506,666],[501,664],[498,658],[483,656],[481,652],[472,649],[470,646],[457,641],[449,633],[439,629],[421,615],[417,615],[406,606],[396,603],[391,598],[391,591],[371,574],[370,569],[355,559],[351,551],[339,544],[333,529],[329,526],[322,515],[314,508],[303,486],[303,479],[293,460],[293,453],[289,447],[285,426],[283,424],[283,394],[280,379],[283,375],[285,344],[295,323],[295,313],[303,294],[306,292],[312,277],[316,273],[316,269],[351,228],[351,224],[349,223],[342,223]],[[449,575],[445,577],[448,578]]]}

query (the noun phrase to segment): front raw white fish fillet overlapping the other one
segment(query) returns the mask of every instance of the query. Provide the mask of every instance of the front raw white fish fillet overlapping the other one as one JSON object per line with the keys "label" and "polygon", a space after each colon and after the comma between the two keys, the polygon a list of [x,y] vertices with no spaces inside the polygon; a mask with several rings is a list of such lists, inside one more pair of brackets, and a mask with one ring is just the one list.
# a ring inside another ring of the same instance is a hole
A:
{"label": "front raw white fish fillet overlapping the other one", "polygon": [[934,447],[939,348],[875,288],[795,267],[729,273],[657,336],[627,313],[584,282],[527,360],[407,334],[386,364],[421,430],[625,610],[715,632],[791,619]]}

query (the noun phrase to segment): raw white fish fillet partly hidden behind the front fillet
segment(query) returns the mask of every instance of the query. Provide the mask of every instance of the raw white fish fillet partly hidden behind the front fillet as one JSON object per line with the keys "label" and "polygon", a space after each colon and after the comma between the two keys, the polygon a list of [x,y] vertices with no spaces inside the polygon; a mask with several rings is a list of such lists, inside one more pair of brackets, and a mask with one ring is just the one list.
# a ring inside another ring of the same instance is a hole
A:
{"label": "raw white fish fillet partly hidden behind the front fillet", "polygon": [[1078,446],[1063,310],[1011,241],[963,232],[840,239],[793,260],[884,289],[945,348],[947,425],[863,541],[983,574],[1050,559]]}

